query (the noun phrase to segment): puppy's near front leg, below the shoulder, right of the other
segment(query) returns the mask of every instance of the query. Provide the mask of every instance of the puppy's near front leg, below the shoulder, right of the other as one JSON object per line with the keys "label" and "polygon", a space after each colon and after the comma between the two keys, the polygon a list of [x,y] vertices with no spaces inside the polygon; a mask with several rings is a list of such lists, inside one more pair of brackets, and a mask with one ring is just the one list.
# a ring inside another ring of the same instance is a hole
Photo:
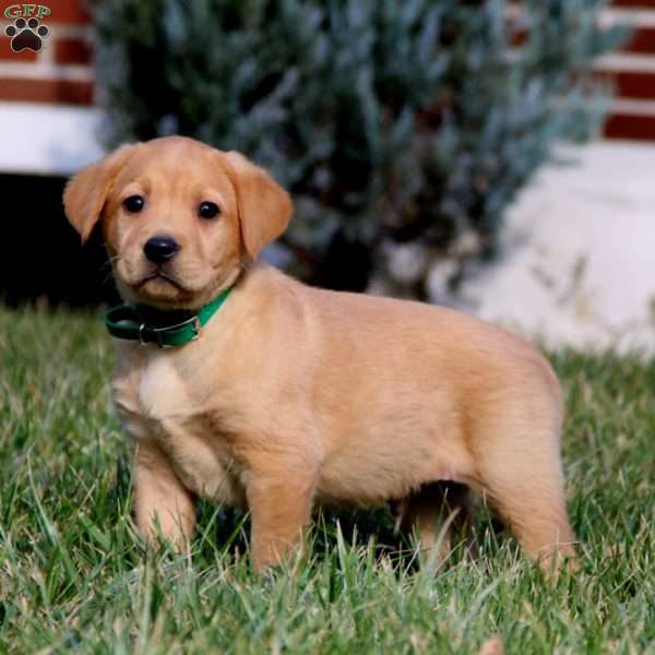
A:
{"label": "puppy's near front leg, below the shoulder, right of the other", "polygon": [[302,528],[311,517],[314,487],[314,475],[297,466],[252,474],[248,504],[255,571],[279,564],[301,543]]}

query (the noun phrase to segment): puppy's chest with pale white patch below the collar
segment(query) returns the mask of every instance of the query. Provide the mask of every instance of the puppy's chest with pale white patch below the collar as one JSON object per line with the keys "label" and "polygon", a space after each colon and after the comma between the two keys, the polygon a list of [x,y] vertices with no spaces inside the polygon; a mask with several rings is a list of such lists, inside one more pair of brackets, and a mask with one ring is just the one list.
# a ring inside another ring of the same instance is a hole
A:
{"label": "puppy's chest with pale white patch below the collar", "polygon": [[240,507],[245,500],[234,439],[207,386],[200,376],[182,377],[166,353],[157,353],[115,380],[115,402],[136,444],[154,441],[188,489]]}

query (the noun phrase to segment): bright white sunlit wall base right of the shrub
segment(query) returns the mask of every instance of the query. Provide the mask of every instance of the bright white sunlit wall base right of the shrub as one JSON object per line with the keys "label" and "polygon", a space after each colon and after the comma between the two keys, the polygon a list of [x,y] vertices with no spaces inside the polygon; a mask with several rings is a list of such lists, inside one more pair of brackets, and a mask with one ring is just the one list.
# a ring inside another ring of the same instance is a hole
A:
{"label": "bright white sunlit wall base right of the shrub", "polygon": [[507,214],[460,306],[551,347],[655,354],[655,145],[562,148]]}

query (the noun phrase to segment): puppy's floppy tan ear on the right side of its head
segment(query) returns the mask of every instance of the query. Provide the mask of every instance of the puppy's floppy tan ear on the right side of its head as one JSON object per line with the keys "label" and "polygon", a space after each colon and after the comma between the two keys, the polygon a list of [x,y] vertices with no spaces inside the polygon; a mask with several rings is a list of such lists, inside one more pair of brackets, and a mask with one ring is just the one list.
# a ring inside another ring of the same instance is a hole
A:
{"label": "puppy's floppy tan ear on the right side of its head", "polygon": [[225,156],[234,171],[243,246],[246,252],[257,259],[260,250],[286,229],[294,204],[289,194],[263,168],[235,151]]}

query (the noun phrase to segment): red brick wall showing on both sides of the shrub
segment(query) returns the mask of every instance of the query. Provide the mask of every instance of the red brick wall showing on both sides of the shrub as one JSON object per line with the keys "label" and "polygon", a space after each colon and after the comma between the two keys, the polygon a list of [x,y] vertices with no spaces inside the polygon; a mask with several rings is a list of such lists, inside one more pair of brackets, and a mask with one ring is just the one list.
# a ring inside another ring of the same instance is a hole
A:
{"label": "red brick wall showing on both sides of the shrub", "polygon": [[[4,29],[12,21],[3,14],[15,4],[0,0],[0,105],[26,102],[91,106],[94,84],[90,24],[83,3],[44,1],[51,13],[43,20],[49,35],[39,52],[11,50]],[[655,141],[655,0],[614,0],[604,20],[627,23],[635,29],[623,52],[598,62],[599,74],[612,81],[618,92],[605,135]]]}

